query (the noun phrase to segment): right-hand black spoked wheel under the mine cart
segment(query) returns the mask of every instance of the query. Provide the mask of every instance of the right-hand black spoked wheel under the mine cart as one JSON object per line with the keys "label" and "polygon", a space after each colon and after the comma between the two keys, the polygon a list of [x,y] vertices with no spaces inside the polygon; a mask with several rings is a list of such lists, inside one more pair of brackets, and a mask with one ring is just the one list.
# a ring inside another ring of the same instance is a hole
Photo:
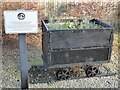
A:
{"label": "right-hand black spoked wheel under the mine cart", "polygon": [[94,77],[99,73],[99,70],[96,67],[89,66],[85,70],[85,73],[86,73],[87,77]]}

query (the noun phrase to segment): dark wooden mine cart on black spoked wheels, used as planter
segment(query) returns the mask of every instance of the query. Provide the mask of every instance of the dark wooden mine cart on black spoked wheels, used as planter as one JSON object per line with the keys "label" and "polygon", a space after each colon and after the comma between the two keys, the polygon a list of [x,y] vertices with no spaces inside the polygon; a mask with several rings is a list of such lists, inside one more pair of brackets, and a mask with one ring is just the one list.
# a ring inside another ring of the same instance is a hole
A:
{"label": "dark wooden mine cart on black spoked wheels, used as planter", "polygon": [[[59,23],[80,24],[82,20],[62,19]],[[43,66],[47,69],[58,68],[55,73],[56,79],[68,79],[71,70],[65,67],[79,65],[83,66],[87,77],[96,76],[99,69],[95,65],[110,62],[114,34],[112,26],[97,19],[90,19],[89,23],[100,25],[102,28],[59,29],[55,28],[56,23],[57,20],[53,20],[53,26],[49,28],[49,20],[42,20]],[[43,73],[45,71],[43,70]],[[49,77],[49,74],[47,75]]]}

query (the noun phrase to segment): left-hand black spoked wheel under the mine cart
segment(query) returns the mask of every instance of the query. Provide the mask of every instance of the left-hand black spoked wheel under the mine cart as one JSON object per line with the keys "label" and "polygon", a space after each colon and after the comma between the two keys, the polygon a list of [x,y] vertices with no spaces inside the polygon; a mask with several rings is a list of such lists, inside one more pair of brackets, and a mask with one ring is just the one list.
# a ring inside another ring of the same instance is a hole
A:
{"label": "left-hand black spoked wheel under the mine cart", "polygon": [[59,69],[56,72],[57,80],[66,80],[70,78],[70,71],[68,69]]}

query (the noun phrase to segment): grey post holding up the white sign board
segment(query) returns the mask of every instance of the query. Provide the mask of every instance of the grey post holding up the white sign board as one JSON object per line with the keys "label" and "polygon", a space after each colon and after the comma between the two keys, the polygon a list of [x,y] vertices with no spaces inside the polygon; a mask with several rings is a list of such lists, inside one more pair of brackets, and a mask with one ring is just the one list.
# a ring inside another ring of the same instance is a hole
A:
{"label": "grey post holding up the white sign board", "polygon": [[26,34],[19,34],[20,47],[20,70],[21,70],[21,88],[28,89],[28,58],[26,47]]}

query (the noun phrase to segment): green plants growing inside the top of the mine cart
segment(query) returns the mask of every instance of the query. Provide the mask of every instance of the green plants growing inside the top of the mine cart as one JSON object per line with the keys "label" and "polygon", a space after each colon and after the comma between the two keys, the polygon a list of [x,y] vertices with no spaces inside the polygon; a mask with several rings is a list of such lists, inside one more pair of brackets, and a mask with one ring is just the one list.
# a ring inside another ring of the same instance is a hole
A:
{"label": "green plants growing inside the top of the mine cart", "polygon": [[50,30],[60,29],[89,29],[89,28],[104,28],[95,22],[89,22],[88,19],[83,19],[81,22],[51,22],[47,25]]}

